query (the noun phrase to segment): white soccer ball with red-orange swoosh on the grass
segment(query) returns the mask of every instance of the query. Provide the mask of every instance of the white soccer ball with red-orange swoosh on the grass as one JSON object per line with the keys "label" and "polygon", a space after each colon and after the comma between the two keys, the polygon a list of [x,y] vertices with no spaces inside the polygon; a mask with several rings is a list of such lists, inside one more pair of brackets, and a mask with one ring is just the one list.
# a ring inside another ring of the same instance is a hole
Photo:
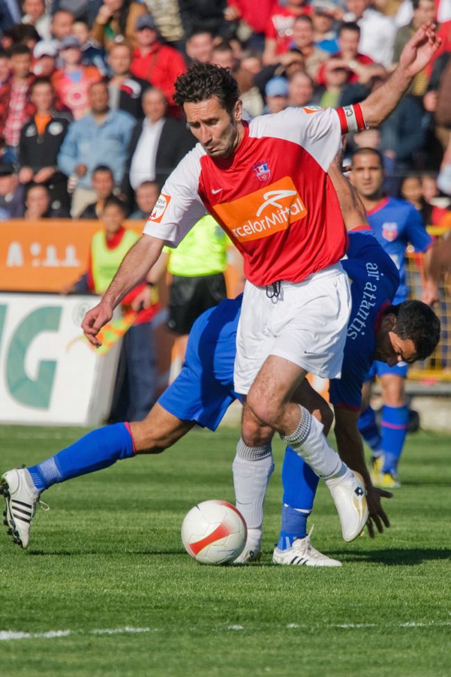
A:
{"label": "white soccer ball with red-orange swoosh on the grass", "polygon": [[232,562],[244,550],[248,530],[241,513],[227,501],[203,501],[182,523],[182,543],[201,564]]}

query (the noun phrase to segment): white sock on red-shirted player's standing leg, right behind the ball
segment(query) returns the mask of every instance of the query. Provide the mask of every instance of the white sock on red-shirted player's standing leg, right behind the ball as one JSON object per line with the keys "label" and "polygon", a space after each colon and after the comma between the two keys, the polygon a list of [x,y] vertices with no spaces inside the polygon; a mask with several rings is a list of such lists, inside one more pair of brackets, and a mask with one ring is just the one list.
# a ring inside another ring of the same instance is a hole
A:
{"label": "white sock on red-shirted player's standing leg, right behind the ball", "polygon": [[253,530],[258,530],[261,536],[264,496],[274,470],[271,446],[249,447],[240,440],[232,470],[235,504],[246,521],[249,537]]}

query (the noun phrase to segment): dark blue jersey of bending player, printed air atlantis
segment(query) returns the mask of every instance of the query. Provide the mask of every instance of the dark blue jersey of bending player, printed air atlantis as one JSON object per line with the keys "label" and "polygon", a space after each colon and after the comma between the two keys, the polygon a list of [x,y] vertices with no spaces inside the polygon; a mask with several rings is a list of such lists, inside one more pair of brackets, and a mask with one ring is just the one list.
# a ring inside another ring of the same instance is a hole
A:
{"label": "dark blue jersey of bending player, printed air atlantis", "polygon": [[370,230],[349,233],[348,254],[341,261],[351,283],[351,314],[341,378],[330,381],[330,401],[352,410],[361,407],[361,387],[374,360],[375,332],[382,310],[398,289],[400,276]]}

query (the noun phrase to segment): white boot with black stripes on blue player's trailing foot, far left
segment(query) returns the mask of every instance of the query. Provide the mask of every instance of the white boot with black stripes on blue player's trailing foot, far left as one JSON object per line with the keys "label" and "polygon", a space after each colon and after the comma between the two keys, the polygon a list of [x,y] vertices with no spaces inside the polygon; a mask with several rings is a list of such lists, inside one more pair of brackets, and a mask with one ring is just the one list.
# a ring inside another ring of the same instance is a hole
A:
{"label": "white boot with black stripes on blue player's trailing foot, far left", "polygon": [[3,474],[0,494],[3,494],[6,503],[3,524],[8,527],[8,535],[12,540],[25,549],[30,538],[31,520],[39,501],[39,492],[28,470],[14,469]]}

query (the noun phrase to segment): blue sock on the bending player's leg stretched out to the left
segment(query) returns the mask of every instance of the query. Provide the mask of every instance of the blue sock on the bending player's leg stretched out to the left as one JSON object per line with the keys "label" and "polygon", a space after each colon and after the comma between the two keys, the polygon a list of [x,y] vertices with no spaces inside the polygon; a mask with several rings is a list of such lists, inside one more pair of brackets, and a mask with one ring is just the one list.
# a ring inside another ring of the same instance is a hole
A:
{"label": "blue sock on the bending player's leg stretched out to the left", "polygon": [[117,423],[87,433],[67,449],[28,468],[28,472],[36,489],[43,491],[57,482],[108,468],[133,453],[133,437],[128,425]]}

